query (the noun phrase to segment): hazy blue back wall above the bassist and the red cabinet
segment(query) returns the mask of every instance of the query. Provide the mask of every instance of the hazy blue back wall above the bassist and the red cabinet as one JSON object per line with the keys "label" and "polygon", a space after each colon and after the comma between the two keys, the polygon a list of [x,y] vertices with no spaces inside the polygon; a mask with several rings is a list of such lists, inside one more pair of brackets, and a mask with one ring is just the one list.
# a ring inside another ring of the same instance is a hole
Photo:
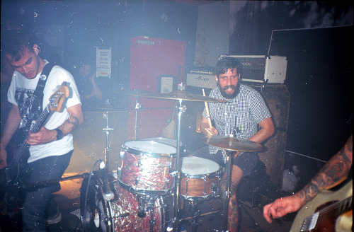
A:
{"label": "hazy blue back wall above the bassist and the red cabinet", "polygon": [[62,27],[67,69],[73,69],[82,57],[95,59],[96,47],[112,47],[112,77],[117,88],[129,83],[131,37],[185,41],[186,65],[193,64],[198,6],[157,0],[1,1],[1,14],[18,13],[20,8],[33,30],[43,25]]}

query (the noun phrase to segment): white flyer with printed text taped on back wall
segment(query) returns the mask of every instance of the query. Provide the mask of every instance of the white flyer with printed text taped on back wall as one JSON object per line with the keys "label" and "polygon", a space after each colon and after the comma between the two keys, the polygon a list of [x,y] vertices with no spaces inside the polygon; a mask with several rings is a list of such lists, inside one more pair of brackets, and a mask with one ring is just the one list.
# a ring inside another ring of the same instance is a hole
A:
{"label": "white flyer with printed text taped on back wall", "polygon": [[111,51],[111,47],[109,50],[96,47],[96,76],[108,76],[110,78],[112,72]]}

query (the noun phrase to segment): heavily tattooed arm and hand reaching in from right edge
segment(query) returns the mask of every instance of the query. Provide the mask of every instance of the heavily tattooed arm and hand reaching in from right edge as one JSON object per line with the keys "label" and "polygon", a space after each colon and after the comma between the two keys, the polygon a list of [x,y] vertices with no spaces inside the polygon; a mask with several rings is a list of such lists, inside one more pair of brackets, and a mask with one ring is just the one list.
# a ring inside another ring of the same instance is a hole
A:
{"label": "heavily tattooed arm and hand reaching in from right edge", "polygon": [[350,135],[341,151],[338,151],[302,190],[295,195],[279,198],[275,202],[265,205],[263,207],[264,218],[271,223],[270,216],[273,219],[278,219],[285,214],[299,210],[321,190],[328,190],[346,180],[352,163],[353,134]]}

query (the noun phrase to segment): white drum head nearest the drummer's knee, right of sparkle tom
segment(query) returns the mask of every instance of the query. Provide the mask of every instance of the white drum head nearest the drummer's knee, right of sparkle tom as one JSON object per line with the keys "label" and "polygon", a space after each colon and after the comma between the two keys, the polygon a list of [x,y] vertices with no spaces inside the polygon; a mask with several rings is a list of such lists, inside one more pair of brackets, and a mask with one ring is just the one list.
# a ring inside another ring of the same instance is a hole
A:
{"label": "white drum head nearest the drummer's knee, right of sparkle tom", "polygon": [[182,173],[188,175],[202,175],[207,173],[215,173],[220,166],[215,161],[200,157],[183,157]]}

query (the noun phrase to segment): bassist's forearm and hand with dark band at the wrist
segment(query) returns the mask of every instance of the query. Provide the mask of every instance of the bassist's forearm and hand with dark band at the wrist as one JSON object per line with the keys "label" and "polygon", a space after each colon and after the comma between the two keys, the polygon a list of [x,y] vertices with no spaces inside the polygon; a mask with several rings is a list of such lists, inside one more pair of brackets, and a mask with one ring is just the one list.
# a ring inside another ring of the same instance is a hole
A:
{"label": "bassist's forearm and hand with dark band at the wrist", "polygon": [[[77,104],[67,109],[69,112],[69,119],[66,120],[58,129],[63,133],[69,134],[79,127],[84,122],[84,115],[82,114],[81,105]],[[38,133],[29,132],[28,138],[25,140],[30,145],[46,144],[57,139],[57,131],[55,129],[49,130],[42,127]]]}

